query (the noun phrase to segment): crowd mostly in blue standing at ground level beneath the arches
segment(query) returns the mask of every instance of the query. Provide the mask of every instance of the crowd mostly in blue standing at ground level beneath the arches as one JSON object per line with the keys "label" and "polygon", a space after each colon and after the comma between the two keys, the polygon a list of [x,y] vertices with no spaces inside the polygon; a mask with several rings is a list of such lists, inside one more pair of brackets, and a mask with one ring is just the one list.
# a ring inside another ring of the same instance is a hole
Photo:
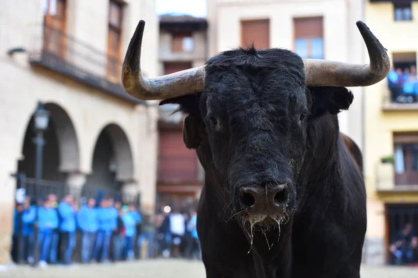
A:
{"label": "crowd mostly in blue standing at ground level beneath the arches", "polygon": [[132,260],[141,258],[145,242],[148,258],[201,258],[196,212],[180,214],[175,209],[153,217],[113,198],[91,198],[78,208],[70,194],[60,202],[54,194],[35,203],[25,196],[16,204],[12,248],[16,263],[32,264],[35,255],[40,267],[70,265],[77,255],[82,263]]}

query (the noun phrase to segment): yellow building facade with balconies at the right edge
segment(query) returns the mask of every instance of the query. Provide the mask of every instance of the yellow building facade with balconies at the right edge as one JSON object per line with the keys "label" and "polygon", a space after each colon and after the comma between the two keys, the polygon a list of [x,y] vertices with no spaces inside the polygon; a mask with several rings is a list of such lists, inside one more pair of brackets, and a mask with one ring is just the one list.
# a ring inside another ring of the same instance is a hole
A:
{"label": "yellow building facade with balconies at the right edge", "polygon": [[[407,223],[418,231],[418,95],[405,88],[408,80],[418,91],[413,72],[418,52],[418,2],[367,0],[364,10],[364,21],[387,48],[394,67],[389,75],[403,80],[403,85],[389,89],[389,79],[385,79],[364,91],[369,222],[364,261],[389,263],[393,256],[388,247],[396,233]],[[368,59],[364,56],[364,61]]]}

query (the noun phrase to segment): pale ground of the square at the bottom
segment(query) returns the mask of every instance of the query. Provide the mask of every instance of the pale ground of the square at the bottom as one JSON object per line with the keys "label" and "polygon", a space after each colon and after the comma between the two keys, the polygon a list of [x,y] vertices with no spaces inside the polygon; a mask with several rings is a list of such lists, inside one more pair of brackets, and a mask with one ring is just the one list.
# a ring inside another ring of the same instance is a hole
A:
{"label": "pale ground of the square at the bottom", "polygon": [[[27,266],[1,266],[1,278],[206,278],[203,264],[196,261],[164,260],[106,265],[51,266],[33,269]],[[417,268],[362,268],[362,278],[418,278]]]}

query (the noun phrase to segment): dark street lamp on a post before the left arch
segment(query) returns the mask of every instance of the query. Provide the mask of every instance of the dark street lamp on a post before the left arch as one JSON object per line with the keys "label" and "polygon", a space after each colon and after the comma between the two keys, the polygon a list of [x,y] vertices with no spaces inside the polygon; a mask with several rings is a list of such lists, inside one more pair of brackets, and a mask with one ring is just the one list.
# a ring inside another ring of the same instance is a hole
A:
{"label": "dark street lamp on a post before the left arch", "polygon": [[[35,198],[39,198],[39,185],[42,178],[42,155],[45,145],[44,132],[48,128],[50,112],[47,111],[42,102],[38,102],[38,107],[33,114],[33,131],[36,136],[33,138],[33,144],[36,145],[35,155]],[[35,218],[35,242],[33,244],[33,266],[39,263],[39,233],[38,233],[38,211]]]}

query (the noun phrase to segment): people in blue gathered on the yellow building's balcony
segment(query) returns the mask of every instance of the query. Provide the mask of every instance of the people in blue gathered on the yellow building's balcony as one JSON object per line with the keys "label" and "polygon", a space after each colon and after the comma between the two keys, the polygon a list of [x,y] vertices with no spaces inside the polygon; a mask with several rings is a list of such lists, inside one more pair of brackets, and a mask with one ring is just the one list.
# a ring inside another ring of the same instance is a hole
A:
{"label": "people in blue gathered on the yellow building's balcony", "polygon": [[387,75],[392,102],[418,102],[417,68],[391,68]]}

